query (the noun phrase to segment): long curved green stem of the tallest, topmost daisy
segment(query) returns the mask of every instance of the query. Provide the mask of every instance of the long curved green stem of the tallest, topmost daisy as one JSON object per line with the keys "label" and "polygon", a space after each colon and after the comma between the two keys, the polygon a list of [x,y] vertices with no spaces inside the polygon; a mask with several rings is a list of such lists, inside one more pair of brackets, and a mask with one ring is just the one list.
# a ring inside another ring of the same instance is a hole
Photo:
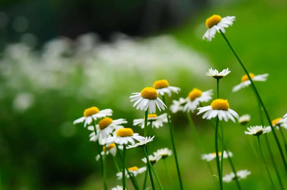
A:
{"label": "long curved green stem of the tallest, topmost daisy", "polygon": [[233,49],[232,45],[231,45],[230,42],[228,41],[228,39],[227,39],[227,37],[225,36],[225,34],[224,34],[221,30],[220,30],[220,33],[222,34],[222,36],[223,36],[223,38],[225,39],[226,43],[227,43],[228,46],[230,47],[231,51],[232,51],[233,54],[235,55],[236,59],[238,60],[239,64],[241,65],[241,67],[242,67],[243,70],[245,71],[246,75],[248,76],[248,79],[249,79],[250,82],[251,82],[251,86],[253,87],[253,90],[254,90],[254,92],[255,92],[255,94],[256,94],[256,96],[257,96],[257,99],[259,100],[259,102],[260,102],[260,104],[261,104],[261,106],[262,106],[262,108],[263,108],[263,110],[264,110],[264,113],[265,113],[265,115],[266,115],[266,118],[267,118],[267,120],[268,120],[268,123],[269,123],[269,125],[270,125],[270,127],[271,127],[271,129],[272,129],[273,136],[274,136],[274,138],[275,138],[275,140],[276,140],[276,143],[277,143],[278,149],[279,149],[279,151],[280,151],[280,155],[281,155],[281,158],[282,158],[282,161],[283,161],[283,164],[284,164],[286,173],[287,173],[287,163],[286,163],[286,160],[285,160],[285,157],[284,157],[284,154],[283,154],[283,150],[282,150],[282,147],[281,147],[281,145],[280,145],[278,136],[276,135],[275,129],[274,129],[274,127],[272,126],[272,122],[271,122],[271,119],[270,119],[269,114],[268,114],[268,112],[267,112],[267,109],[266,109],[265,105],[263,104],[263,101],[262,101],[262,99],[261,99],[261,97],[260,97],[260,95],[259,95],[259,93],[258,93],[258,91],[257,91],[257,89],[256,89],[256,87],[255,87],[254,82],[252,81],[252,79],[251,79],[251,77],[250,77],[250,75],[249,75],[249,72],[247,71],[247,69],[245,68],[245,66],[243,65],[243,63],[241,62],[239,56],[237,55],[237,53],[236,53],[235,50]]}

